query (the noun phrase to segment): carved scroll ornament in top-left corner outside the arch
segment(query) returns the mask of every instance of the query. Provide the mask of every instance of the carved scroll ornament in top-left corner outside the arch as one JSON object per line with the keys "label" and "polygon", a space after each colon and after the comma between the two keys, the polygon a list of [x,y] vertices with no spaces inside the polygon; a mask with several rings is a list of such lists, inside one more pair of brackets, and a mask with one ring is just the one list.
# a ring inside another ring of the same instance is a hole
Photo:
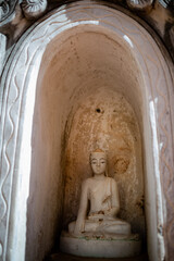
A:
{"label": "carved scroll ornament in top-left corner outside the arch", "polygon": [[1,0],[0,33],[8,36],[8,45],[14,45],[45,14],[47,7],[47,0]]}

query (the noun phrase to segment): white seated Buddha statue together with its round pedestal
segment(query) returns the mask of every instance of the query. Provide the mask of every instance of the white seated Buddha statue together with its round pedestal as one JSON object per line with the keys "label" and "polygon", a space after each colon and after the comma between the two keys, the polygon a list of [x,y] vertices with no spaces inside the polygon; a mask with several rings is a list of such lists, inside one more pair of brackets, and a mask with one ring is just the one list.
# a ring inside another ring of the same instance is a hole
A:
{"label": "white seated Buddha statue together with its round pedestal", "polygon": [[92,177],[82,184],[77,219],[62,232],[60,250],[80,257],[126,258],[140,253],[139,235],[117,217],[120,198],[116,182],[108,177],[107,154],[97,149],[90,153]]}

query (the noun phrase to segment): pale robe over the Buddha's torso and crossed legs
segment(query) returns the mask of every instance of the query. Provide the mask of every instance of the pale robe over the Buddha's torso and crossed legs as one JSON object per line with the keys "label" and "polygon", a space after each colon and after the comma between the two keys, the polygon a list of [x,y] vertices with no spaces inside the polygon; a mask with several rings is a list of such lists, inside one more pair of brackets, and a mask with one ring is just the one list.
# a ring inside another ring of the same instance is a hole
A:
{"label": "pale robe over the Buddha's torso and crossed legs", "polygon": [[[116,198],[116,200],[114,200]],[[86,216],[87,202],[90,201],[90,211]],[[105,177],[103,181],[95,181],[94,177],[87,178],[82,186],[82,199],[78,215],[84,215],[84,219],[77,219],[82,222],[80,233],[111,236],[129,235],[130,225],[117,219],[112,213],[112,210],[120,206],[117,185],[111,177]],[[120,207],[119,207],[120,208]],[[76,222],[69,224],[70,234],[74,233]]]}

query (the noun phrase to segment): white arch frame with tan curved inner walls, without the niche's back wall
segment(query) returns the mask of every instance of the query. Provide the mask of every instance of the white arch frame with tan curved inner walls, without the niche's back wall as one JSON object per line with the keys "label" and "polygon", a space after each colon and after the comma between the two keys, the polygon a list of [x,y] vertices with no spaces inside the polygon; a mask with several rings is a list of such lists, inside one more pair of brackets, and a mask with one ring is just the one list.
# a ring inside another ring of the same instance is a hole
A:
{"label": "white arch frame with tan curved inner walls, without the niche's back wall", "polygon": [[150,260],[172,260],[173,86],[149,33],[104,5],[63,5],[16,47],[3,77],[2,260],[41,260],[50,251],[62,222],[61,166],[71,113],[95,86],[123,95],[135,111],[142,140],[148,252]]}

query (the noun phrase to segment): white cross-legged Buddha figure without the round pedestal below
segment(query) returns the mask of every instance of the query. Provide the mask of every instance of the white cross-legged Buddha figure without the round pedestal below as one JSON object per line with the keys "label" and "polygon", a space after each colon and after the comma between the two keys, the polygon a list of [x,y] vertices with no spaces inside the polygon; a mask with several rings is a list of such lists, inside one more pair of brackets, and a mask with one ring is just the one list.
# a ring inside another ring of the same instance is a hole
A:
{"label": "white cross-legged Buddha figure without the round pedestal below", "polygon": [[91,152],[90,165],[94,176],[82,184],[77,220],[69,224],[69,233],[75,237],[102,238],[130,235],[130,225],[116,217],[120,211],[119,190],[116,182],[107,176],[105,152],[100,149]]}

